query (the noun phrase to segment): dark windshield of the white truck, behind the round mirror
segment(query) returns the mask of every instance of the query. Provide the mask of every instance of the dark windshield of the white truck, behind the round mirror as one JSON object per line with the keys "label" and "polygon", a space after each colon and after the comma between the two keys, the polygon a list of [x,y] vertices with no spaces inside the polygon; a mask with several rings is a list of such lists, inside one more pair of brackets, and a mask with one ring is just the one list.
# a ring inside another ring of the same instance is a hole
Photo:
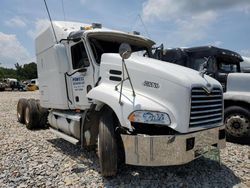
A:
{"label": "dark windshield of the white truck, behind the round mirror", "polygon": [[100,64],[103,53],[119,53],[119,47],[122,43],[128,43],[131,46],[132,54],[139,56],[152,57],[151,48],[146,41],[139,42],[131,38],[120,36],[92,36],[89,37],[89,43],[93,51],[96,63]]}

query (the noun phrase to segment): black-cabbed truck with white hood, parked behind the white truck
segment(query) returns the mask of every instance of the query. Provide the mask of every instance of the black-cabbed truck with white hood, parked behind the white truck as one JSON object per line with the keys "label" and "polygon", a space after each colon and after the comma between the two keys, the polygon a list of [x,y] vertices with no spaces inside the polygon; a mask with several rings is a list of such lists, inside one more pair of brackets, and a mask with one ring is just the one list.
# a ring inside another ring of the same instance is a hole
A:
{"label": "black-cabbed truck with white hood, parked behind the white truck", "polygon": [[243,59],[238,53],[202,46],[158,50],[156,54],[163,61],[189,67],[217,79],[224,90],[228,138],[250,137],[250,74],[241,73]]}

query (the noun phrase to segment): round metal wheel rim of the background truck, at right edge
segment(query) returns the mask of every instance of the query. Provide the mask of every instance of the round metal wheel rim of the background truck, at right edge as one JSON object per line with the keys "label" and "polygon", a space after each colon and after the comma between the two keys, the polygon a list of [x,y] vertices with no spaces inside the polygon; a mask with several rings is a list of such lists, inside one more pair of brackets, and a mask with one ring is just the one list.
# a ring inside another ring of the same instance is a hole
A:
{"label": "round metal wheel rim of the background truck, at right edge", "polygon": [[250,128],[249,119],[239,114],[229,116],[225,125],[227,132],[235,137],[246,136]]}

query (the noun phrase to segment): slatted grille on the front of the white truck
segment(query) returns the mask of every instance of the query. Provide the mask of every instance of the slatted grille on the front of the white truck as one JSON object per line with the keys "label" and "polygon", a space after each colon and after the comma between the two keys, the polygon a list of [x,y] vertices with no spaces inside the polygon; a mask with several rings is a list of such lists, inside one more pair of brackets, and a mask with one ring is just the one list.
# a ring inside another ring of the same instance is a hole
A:
{"label": "slatted grille on the front of the white truck", "polygon": [[208,94],[202,87],[192,88],[189,127],[212,125],[222,121],[223,98],[220,88]]}

